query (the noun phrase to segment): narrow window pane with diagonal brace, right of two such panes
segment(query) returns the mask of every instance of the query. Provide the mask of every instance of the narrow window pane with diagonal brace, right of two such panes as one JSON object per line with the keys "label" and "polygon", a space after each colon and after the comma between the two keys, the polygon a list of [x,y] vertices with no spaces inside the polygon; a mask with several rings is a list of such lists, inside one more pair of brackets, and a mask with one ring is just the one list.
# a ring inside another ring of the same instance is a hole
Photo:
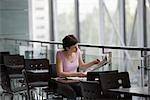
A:
{"label": "narrow window pane with diagonal brace, right of two such panes", "polygon": [[126,0],[126,39],[128,46],[137,46],[137,0]]}

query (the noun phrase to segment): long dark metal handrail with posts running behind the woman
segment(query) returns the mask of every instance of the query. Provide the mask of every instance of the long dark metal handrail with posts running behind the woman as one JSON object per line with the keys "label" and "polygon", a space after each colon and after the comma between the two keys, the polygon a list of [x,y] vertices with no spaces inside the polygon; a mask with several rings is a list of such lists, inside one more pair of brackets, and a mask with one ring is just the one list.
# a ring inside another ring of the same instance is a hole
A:
{"label": "long dark metal handrail with posts running behind the woman", "polygon": [[[4,40],[4,41],[15,41],[15,42],[27,42],[27,43],[40,43],[41,46],[42,44],[56,44],[57,46],[62,45],[62,42],[57,42],[57,41],[38,41],[38,40],[25,40],[25,39],[14,39],[14,38],[0,38],[0,40]],[[108,51],[105,52],[105,49],[116,49],[116,50],[135,50],[135,51],[140,51],[141,52],[141,67],[139,66],[138,69],[141,70],[141,86],[143,86],[143,79],[144,79],[144,70],[146,69],[144,66],[144,62],[145,62],[145,57],[146,51],[150,51],[150,48],[148,47],[134,47],[134,46],[101,46],[99,44],[86,44],[86,43],[78,43],[79,46],[82,47],[94,47],[94,48],[101,48],[102,49],[102,53],[105,54],[109,54],[109,56],[112,56],[112,52]],[[46,47],[47,48],[47,47]],[[47,55],[46,55],[47,56]],[[111,62],[111,59],[110,59]],[[111,66],[111,63],[110,63]],[[143,67],[144,66],[144,67]]]}

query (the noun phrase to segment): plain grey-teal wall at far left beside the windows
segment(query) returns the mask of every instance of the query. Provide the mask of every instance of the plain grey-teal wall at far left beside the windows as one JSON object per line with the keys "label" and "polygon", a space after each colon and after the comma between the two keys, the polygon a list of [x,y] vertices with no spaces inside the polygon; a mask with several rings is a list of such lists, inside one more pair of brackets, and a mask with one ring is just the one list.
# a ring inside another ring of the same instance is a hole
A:
{"label": "plain grey-teal wall at far left beside the windows", "polygon": [[[28,0],[0,0],[0,38],[29,39]],[[10,43],[0,42],[0,51]]]}

